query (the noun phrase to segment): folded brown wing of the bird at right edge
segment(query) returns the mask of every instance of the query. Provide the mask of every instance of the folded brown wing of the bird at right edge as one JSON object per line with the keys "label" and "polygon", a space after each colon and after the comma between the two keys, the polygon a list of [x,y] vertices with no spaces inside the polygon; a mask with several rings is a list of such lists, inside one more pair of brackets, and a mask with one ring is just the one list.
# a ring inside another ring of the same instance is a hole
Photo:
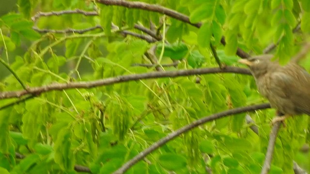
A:
{"label": "folded brown wing of the bird at right edge", "polygon": [[[310,115],[310,74],[304,70],[285,70],[271,75],[271,95],[282,98],[284,103],[293,104],[294,110]],[[289,107],[289,106],[287,106]]]}

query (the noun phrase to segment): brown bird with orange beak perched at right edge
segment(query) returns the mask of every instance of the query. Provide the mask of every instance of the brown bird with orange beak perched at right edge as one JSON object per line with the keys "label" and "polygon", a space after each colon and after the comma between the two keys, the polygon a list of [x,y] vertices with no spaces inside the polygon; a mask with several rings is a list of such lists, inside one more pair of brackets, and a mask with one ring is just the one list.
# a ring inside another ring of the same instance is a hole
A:
{"label": "brown bird with orange beak perched at right edge", "polygon": [[260,55],[239,62],[248,65],[258,91],[281,116],[273,123],[288,116],[310,115],[310,74],[296,63],[300,58],[297,55],[284,66],[272,58],[273,55]]}

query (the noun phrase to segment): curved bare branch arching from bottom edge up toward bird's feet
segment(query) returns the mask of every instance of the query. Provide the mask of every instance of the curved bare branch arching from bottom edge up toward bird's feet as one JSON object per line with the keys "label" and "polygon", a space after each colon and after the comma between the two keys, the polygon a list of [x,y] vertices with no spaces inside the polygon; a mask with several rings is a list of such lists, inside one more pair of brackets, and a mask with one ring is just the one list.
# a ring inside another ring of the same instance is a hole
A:
{"label": "curved bare branch arching from bottom edge up toward bird's feet", "polygon": [[135,156],[133,159],[129,160],[128,162],[126,162],[121,168],[119,168],[117,171],[115,171],[113,174],[124,174],[124,172],[126,172],[131,166],[133,166],[134,164],[136,164],[137,162],[139,162],[140,160],[142,160],[144,157],[146,157],[148,154],[150,154],[151,152],[153,152],[154,150],[156,150],[157,148],[159,148],[160,146],[166,144],[167,142],[173,140],[174,138],[176,138],[177,136],[181,135],[182,133],[185,133],[186,131],[189,131],[193,128],[196,128],[206,122],[210,122],[213,121],[215,119],[219,119],[225,116],[230,116],[233,114],[239,114],[239,113],[243,113],[243,112],[247,112],[247,111],[254,111],[254,110],[258,110],[258,109],[266,109],[266,108],[270,108],[270,104],[269,103],[263,103],[263,104],[258,104],[258,105],[253,105],[253,106],[246,106],[246,107],[239,107],[239,108],[235,108],[235,109],[231,109],[231,110],[227,110],[224,112],[220,112],[217,114],[213,114],[211,116],[205,116],[199,120],[196,120],[194,122],[192,122],[191,124],[188,124],[172,133],[170,133],[169,135],[167,135],[166,137],[160,139],[159,141],[155,142],[153,145],[151,145],[149,148],[143,150],[142,152],[140,152],[137,156]]}

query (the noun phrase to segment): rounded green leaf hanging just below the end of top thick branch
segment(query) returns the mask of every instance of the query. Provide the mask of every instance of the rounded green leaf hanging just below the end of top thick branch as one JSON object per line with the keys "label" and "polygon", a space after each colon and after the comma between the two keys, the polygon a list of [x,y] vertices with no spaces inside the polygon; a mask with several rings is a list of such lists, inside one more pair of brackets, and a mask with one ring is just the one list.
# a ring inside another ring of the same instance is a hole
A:
{"label": "rounded green leaf hanging just below the end of top thick branch", "polygon": [[211,23],[204,23],[197,33],[197,43],[201,47],[208,47],[212,37]]}

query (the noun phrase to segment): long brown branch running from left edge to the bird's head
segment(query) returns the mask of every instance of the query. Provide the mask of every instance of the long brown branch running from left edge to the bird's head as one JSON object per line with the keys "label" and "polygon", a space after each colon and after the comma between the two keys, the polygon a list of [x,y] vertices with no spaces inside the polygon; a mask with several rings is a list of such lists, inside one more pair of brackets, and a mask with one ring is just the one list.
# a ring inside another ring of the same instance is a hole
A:
{"label": "long brown branch running from left edge to the bird's head", "polygon": [[29,87],[27,90],[19,91],[7,91],[0,92],[0,99],[8,99],[21,97],[27,94],[39,95],[43,92],[51,90],[63,90],[71,88],[92,88],[99,86],[107,86],[116,83],[141,80],[141,79],[152,79],[160,77],[179,77],[179,76],[188,76],[188,75],[198,75],[198,74],[208,74],[208,73],[240,73],[250,75],[250,71],[245,68],[238,67],[225,67],[224,69],[220,68],[201,68],[193,70],[178,70],[178,71],[167,71],[167,72],[152,72],[152,73],[141,73],[141,74],[130,74],[122,75],[117,77],[109,77],[101,80],[94,80],[89,82],[72,82],[72,83],[57,83],[50,84],[42,87]]}

